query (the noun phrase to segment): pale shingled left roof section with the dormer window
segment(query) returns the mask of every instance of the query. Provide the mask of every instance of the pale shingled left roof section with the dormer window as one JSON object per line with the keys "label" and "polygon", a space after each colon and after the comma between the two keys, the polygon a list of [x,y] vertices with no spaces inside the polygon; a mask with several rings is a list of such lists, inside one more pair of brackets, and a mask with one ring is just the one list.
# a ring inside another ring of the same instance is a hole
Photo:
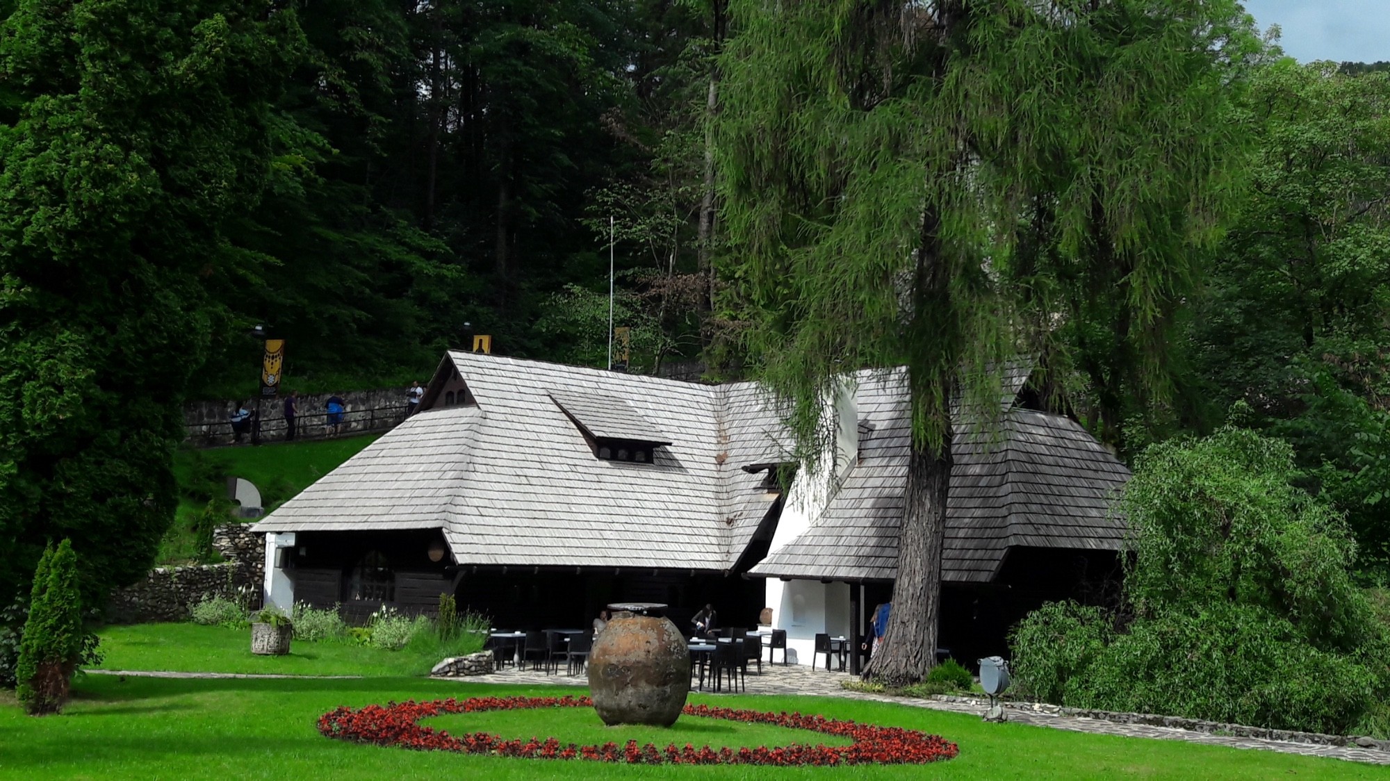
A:
{"label": "pale shingled left roof section with the dormer window", "polygon": [[[435,403],[443,382],[464,382],[475,406]],[[739,468],[783,456],[760,396],[751,384],[449,353],[427,409],[256,531],[442,528],[459,564],[723,571],[777,500]],[[666,446],[651,464],[598,460],[571,406],[585,427]],[[596,414],[614,410],[624,420]]]}

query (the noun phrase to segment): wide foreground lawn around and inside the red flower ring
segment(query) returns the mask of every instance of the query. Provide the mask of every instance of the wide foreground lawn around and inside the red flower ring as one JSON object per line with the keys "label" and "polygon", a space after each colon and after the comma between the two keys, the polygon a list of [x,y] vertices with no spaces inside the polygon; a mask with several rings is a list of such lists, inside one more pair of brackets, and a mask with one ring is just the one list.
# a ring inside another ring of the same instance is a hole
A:
{"label": "wide foreground lawn around and inside the red flower ring", "polygon": [[[741,768],[627,767],[417,753],[322,738],[316,718],[338,705],[477,695],[575,693],[560,687],[498,687],[409,678],[152,680],[92,675],[76,684],[63,716],[29,718],[0,700],[0,778],[1384,778],[1384,768],[1327,759],[1236,750],[1177,741],[1083,735],[898,705],[816,698],[692,696],[759,710],[799,710],[937,732],[960,756],[923,767]],[[443,723],[443,720],[439,720]],[[581,710],[452,717],[453,730],[496,727],[509,737],[614,742],[626,728],[602,728]],[[714,721],[716,727],[733,724]],[[701,732],[685,728],[680,734]],[[712,737],[716,732],[705,731]],[[733,742],[734,734],[724,732]],[[752,735],[749,735],[753,738]],[[694,741],[691,741],[694,742]]]}

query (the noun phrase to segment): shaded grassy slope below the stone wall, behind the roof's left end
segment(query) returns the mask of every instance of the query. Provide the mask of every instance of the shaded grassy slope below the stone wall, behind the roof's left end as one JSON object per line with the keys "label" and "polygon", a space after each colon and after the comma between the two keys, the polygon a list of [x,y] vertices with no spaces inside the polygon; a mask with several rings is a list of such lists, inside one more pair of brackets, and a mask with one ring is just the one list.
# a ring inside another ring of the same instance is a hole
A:
{"label": "shaded grassy slope below the stone wall, behind the roof's left end", "polygon": [[[368,434],[343,439],[211,447],[196,452],[179,450],[174,454],[174,477],[178,479],[182,493],[182,489],[192,479],[193,459],[217,459],[227,463],[228,474],[254,482],[261,492],[279,492],[278,500],[284,502],[375,442],[377,436],[379,435]],[[158,561],[161,564],[182,564],[193,556],[195,545],[190,528],[195,513],[200,510],[200,504],[188,499],[179,500],[178,510],[174,513],[174,525],[170,527],[160,543]]]}

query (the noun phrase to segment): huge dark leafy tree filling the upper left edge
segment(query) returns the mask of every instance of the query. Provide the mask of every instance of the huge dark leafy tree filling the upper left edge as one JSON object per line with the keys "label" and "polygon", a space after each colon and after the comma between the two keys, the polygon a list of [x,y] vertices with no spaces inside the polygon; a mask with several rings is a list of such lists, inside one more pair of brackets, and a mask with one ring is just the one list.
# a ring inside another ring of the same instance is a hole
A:
{"label": "huge dark leafy tree filling the upper left edge", "polygon": [[293,10],[19,0],[0,22],[0,602],[46,539],[83,600],[150,567],[175,506],[178,403],[222,315],[231,215],[271,163]]}

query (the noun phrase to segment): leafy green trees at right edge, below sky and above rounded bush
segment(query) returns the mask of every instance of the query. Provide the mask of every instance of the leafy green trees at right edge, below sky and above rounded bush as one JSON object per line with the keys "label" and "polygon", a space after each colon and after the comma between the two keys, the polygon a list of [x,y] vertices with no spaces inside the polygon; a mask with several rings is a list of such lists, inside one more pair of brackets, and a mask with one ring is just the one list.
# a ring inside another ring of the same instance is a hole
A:
{"label": "leafy green trees at right edge, below sky and above rounded bush", "polygon": [[1390,397],[1390,74],[1280,60],[1237,117],[1251,188],[1194,297],[1207,418],[1237,400],[1294,445],[1305,485],[1347,513],[1362,579],[1390,577],[1377,507]]}

